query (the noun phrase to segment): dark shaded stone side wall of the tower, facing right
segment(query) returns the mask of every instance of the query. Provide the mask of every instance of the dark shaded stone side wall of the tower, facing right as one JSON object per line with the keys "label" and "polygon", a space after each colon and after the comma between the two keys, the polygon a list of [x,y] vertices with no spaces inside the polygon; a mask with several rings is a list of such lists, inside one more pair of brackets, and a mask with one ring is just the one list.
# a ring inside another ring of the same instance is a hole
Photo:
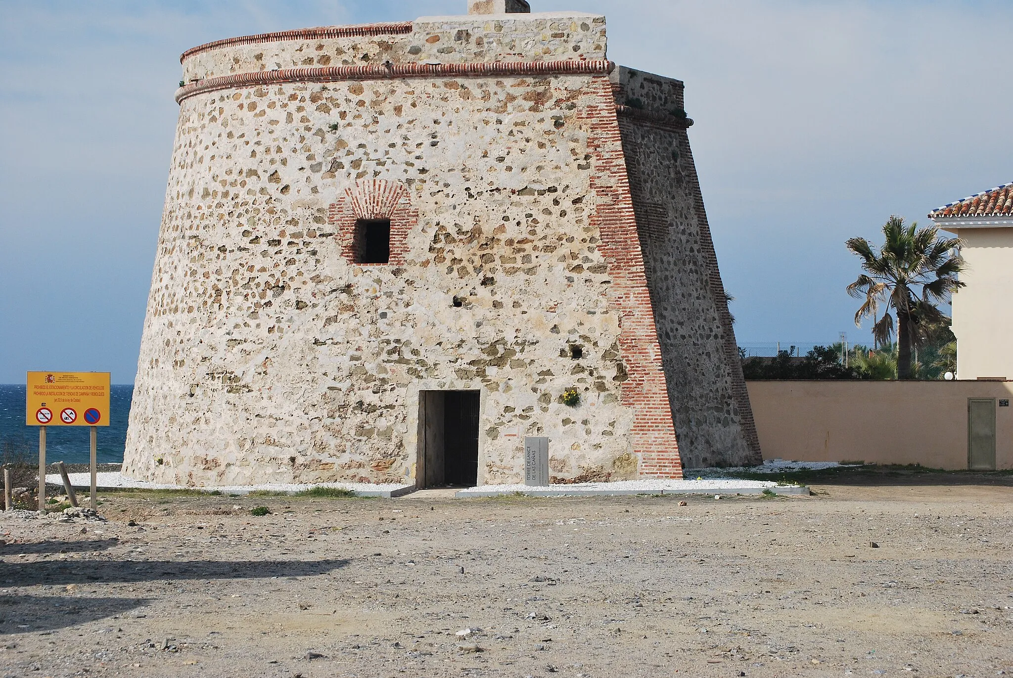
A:
{"label": "dark shaded stone side wall of the tower, facing right", "polygon": [[678,80],[613,74],[637,230],[683,463],[762,461]]}

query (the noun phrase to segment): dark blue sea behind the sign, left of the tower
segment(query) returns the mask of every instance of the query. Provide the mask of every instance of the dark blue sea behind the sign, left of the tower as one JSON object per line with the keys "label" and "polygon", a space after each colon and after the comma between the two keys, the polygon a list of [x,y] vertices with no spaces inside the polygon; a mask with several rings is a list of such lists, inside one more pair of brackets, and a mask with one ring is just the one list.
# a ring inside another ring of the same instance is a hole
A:
{"label": "dark blue sea behind the sign, left of the tower", "polygon": [[[98,463],[123,463],[127,421],[134,396],[131,384],[113,384],[109,392],[109,425],[98,427]],[[0,454],[26,456],[38,461],[38,427],[25,426],[25,385],[0,384]],[[88,463],[91,458],[89,427],[51,426],[46,429],[46,462]]]}

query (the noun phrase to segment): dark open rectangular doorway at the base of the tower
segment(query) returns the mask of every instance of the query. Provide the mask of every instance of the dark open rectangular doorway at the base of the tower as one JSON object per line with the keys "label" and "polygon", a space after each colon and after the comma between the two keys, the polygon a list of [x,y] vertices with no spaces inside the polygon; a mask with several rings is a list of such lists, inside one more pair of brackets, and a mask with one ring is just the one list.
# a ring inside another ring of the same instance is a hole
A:
{"label": "dark open rectangular doorway at the base of the tower", "polygon": [[478,482],[478,391],[418,394],[419,488]]}

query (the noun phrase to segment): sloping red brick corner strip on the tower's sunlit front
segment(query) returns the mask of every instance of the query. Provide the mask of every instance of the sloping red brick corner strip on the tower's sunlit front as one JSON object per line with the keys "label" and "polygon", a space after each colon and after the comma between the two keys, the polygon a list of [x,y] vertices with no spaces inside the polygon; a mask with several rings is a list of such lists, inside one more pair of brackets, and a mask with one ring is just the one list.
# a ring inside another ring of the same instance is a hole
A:
{"label": "sloping red brick corner strip on the tower's sunlit front", "polygon": [[591,186],[597,205],[591,222],[602,237],[600,250],[613,281],[610,295],[620,314],[619,347],[629,377],[622,385],[621,401],[634,411],[630,436],[633,452],[639,458],[640,477],[681,478],[683,464],[636,230],[616,101],[607,78],[592,78],[586,91],[595,102],[582,105],[577,119],[591,133],[588,146],[594,155]]}

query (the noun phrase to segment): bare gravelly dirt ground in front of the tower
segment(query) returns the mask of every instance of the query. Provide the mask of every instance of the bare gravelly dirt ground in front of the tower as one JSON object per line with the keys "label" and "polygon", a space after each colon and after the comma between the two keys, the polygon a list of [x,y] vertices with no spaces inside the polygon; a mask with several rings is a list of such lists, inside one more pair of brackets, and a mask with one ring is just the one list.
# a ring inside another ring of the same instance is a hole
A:
{"label": "bare gravelly dirt ground in front of the tower", "polygon": [[0,673],[1013,675],[1009,484],[108,494],[106,523],[0,517]]}

